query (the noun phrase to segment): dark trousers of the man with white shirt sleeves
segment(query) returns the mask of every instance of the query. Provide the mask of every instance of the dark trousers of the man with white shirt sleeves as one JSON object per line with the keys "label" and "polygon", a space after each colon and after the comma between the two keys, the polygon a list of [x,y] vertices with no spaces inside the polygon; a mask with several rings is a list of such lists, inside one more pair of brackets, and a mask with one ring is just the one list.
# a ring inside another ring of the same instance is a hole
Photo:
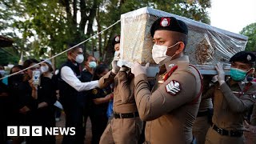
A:
{"label": "dark trousers of the man with white shirt sleeves", "polygon": [[64,135],[62,144],[83,144],[84,131],[82,126],[83,107],[70,102],[70,105],[63,105],[66,114],[66,127],[75,127],[74,135]]}

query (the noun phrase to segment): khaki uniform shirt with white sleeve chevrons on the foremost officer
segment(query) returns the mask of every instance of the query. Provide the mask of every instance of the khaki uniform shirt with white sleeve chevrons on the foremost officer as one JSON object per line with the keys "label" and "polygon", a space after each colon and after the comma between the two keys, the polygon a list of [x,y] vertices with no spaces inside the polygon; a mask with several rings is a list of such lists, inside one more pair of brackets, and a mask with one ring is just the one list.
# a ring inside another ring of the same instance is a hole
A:
{"label": "khaki uniform shirt with white sleeve chevrons on the foremost officer", "polygon": [[[140,118],[146,122],[146,142],[152,144],[190,143],[192,126],[198,113],[201,97],[201,78],[198,71],[189,66],[188,56],[166,63],[178,69],[158,87],[150,92],[146,74],[135,78],[135,100]],[[169,85],[170,84],[170,85]],[[174,86],[176,88],[174,88]]]}

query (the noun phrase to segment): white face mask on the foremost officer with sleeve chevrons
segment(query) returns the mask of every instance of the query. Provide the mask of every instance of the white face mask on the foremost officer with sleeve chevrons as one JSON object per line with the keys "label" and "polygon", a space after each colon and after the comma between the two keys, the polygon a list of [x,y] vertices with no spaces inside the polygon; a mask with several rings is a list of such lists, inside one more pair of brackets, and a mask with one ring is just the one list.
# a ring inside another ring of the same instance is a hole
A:
{"label": "white face mask on the foremost officer with sleeve chevrons", "polygon": [[166,52],[168,49],[178,45],[178,43],[179,42],[177,42],[176,44],[174,44],[173,46],[170,46],[170,47],[154,44],[153,49],[152,49],[152,58],[154,59],[154,62],[162,65],[162,64],[170,61],[172,58],[174,58],[174,55],[176,53],[173,56],[168,56],[168,55],[166,55]]}

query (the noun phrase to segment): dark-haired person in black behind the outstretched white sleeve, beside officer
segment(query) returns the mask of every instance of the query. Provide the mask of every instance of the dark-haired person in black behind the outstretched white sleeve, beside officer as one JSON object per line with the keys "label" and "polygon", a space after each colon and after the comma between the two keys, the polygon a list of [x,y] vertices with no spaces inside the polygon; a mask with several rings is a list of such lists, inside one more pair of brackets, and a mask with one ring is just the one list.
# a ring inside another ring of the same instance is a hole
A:
{"label": "dark-haired person in black behind the outstretched white sleeve, beside officer", "polygon": [[[109,68],[105,64],[98,65],[95,69],[93,80],[102,78],[108,71]],[[94,90],[90,90],[90,95],[93,99],[93,104],[91,106],[92,116],[90,117],[93,134],[92,144],[98,144],[102,133],[106,128],[106,123],[108,121],[106,110],[108,103],[113,98],[111,91],[110,86],[107,86],[104,89],[95,88]]]}

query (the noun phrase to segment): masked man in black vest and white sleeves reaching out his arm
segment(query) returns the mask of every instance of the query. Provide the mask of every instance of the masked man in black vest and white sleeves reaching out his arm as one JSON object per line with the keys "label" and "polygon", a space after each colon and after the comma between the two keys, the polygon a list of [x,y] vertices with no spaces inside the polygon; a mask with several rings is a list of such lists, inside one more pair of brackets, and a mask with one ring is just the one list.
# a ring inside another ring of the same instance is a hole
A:
{"label": "masked man in black vest and white sleeves reaching out his arm", "polygon": [[[71,47],[71,46],[70,46]],[[76,46],[67,52],[67,61],[59,69],[59,94],[66,114],[66,127],[75,127],[75,135],[64,135],[62,143],[79,144],[84,141],[82,129],[83,90],[98,87],[98,81],[81,82],[79,64],[83,62],[82,47]]]}

